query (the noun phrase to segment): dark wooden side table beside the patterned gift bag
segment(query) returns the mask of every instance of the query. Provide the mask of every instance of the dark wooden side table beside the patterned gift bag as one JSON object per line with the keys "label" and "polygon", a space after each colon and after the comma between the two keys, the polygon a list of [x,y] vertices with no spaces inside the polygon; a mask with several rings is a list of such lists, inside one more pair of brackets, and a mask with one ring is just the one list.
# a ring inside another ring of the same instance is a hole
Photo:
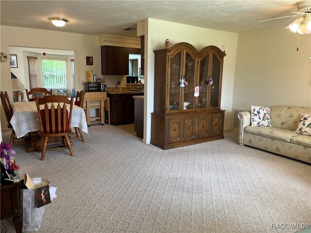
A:
{"label": "dark wooden side table beside the patterned gift bag", "polygon": [[17,233],[22,233],[23,217],[19,206],[18,187],[20,182],[1,185],[1,220],[13,217]]}

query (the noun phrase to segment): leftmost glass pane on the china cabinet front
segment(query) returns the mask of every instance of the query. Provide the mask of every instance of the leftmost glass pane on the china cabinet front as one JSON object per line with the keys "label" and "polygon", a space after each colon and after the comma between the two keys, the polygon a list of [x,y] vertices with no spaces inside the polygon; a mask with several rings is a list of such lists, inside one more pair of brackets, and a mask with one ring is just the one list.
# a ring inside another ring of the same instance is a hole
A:
{"label": "leftmost glass pane on the china cabinet front", "polygon": [[181,79],[181,58],[182,52],[176,53],[169,59],[170,75],[169,75],[169,111],[180,110],[179,98],[179,80]]}

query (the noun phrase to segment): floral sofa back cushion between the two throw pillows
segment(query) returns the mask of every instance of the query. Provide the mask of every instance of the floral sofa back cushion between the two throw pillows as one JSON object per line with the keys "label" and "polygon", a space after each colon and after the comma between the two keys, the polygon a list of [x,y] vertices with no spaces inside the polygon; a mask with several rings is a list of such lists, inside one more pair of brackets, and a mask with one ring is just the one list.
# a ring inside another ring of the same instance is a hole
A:
{"label": "floral sofa back cushion between the two throw pillows", "polygon": [[295,131],[303,113],[311,114],[311,108],[288,105],[271,107],[270,121],[272,127]]}

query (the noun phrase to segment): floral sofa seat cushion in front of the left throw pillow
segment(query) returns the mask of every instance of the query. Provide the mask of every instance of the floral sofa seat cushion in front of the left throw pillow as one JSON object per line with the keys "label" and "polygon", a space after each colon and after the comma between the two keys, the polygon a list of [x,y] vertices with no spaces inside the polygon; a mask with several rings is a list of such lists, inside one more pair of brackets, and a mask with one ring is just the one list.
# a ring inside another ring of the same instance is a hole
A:
{"label": "floral sofa seat cushion in front of the left throw pillow", "polygon": [[267,137],[270,139],[279,140],[282,142],[290,142],[291,137],[297,136],[297,133],[294,133],[293,131],[279,129],[275,127],[246,126],[244,128],[244,132],[258,135],[261,137]]}

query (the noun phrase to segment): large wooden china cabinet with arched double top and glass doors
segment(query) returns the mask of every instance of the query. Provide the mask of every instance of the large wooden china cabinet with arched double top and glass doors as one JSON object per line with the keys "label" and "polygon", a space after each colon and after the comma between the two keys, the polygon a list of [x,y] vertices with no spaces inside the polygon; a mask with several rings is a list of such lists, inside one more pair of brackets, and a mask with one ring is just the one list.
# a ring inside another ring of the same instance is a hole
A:
{"label": "large wooden china cabinet with arched double top and glass doors", "polygon": [[[220,102],[225,52],[216,46],[197,51],[182,42],[154,53],[151,144],[165,150],[223,139],[225,111]],[[188,83],[185,87],[179,86],[181,79]]]}

